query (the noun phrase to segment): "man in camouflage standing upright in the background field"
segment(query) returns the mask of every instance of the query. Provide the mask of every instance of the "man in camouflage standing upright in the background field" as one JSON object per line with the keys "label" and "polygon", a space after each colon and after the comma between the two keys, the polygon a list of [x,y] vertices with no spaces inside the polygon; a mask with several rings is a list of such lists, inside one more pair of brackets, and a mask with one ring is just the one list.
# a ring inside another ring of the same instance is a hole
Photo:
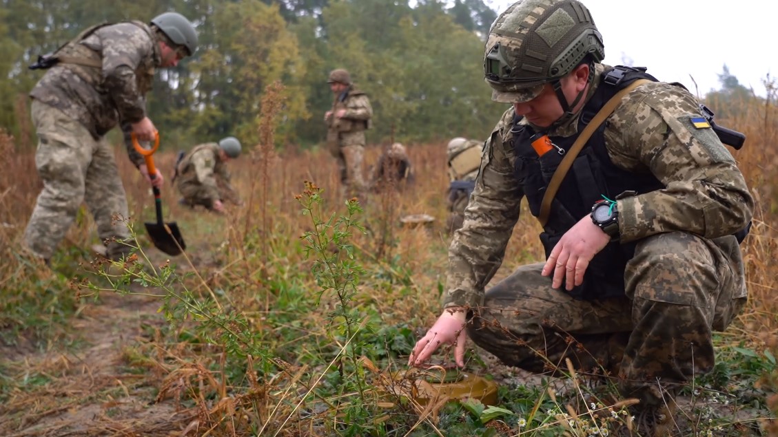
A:
{"label": "man in camouflage standing upright in the background field", "polygon": [[327,82],[335,95],[332,109],[324,113],[327,146],[338,161],[342,194],[356,196],[366,188],[362,161],[365,130],[373,126],[373,108],[367,95],[355,88],[349,72],[333,70]]}

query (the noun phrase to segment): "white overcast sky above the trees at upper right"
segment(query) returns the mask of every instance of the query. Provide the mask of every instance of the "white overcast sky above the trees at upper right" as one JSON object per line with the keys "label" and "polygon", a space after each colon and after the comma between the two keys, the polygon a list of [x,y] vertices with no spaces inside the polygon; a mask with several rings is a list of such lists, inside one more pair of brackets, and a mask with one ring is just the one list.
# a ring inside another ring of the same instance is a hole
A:
{"label": "white overcast sky above the trees at upper right", "polygon": [[[503,12],[515,0],[486,0]],[[605,64],[648,67],[664,82],[699,94],[719,89],[727,65],[741,85],[765,96],[778,76],[778,2],[774,0],[581,0],[605,42]]]}

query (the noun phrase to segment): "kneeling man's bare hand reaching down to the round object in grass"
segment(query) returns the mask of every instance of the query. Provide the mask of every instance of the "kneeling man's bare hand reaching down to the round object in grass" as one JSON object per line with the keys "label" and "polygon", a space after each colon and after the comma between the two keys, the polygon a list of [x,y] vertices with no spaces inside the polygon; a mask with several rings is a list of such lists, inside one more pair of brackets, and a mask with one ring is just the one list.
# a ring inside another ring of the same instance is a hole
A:
{"label": "kneeling man's bare hand reaching down to the round object in grass", "polygon": [[423,365],[441,344],[454,344],[454,359],[457,366],[464,367],[465,314],[461,308],[443,309],[438,320],[427,334],[413,347],[408,365]]}

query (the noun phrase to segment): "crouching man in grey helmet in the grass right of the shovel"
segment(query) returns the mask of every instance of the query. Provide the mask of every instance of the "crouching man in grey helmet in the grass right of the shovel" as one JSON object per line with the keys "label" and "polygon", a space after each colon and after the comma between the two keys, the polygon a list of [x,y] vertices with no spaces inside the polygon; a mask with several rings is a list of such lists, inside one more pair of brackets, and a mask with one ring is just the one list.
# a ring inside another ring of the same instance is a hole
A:
{"label": "crouching man in grey helmet in the grass right of the shovel", "polygon": [[224,203],[240,205],[230,185],[226,163],[240,156],[240,142],[226,137],[219,143],[195,145],[191,152],[180,156],[176,163],[173,183],[182,198],[179,203],[194,208],[202,205],[209,211],[224,212]]}

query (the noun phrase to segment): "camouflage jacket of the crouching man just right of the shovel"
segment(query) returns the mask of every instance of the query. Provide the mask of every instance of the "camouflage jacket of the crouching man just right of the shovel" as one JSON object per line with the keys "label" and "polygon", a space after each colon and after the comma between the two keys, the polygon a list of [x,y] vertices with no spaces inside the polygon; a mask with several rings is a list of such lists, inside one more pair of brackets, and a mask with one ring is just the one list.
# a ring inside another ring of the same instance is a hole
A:
{"label": "camouflage jacket of the crouching man just right of the shovel", "polygon": [[219,157],[220,150],[221,148],[215,142],[195,145],[178,164],[176,183],[200,185],[205,188],[208,197],[213,201],[221,200],[217,178],[226,184],[226,189],[232,191],[232,187],[230,187],[230,172],[227,171],[226,163]]}

